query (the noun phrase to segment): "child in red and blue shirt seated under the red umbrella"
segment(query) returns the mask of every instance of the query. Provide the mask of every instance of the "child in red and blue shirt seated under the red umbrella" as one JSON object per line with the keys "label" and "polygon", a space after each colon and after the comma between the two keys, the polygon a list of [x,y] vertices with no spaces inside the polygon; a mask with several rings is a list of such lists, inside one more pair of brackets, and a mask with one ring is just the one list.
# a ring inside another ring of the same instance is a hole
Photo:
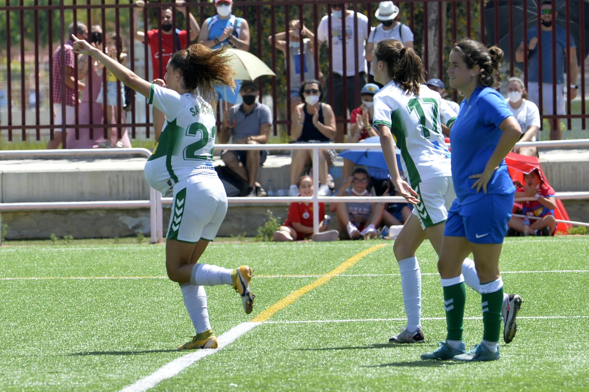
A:
{"label": "child in red and blue shirt seated under the red umbrella", "polygon": [[552,235],[556,228],[554,189],[542,181],[538,170],[524,174],[524,181],[525,186],[515,191],[515,200],[521,197],[533,197],[534,201],[522,202],[522,214],[542,219],[511,217],[507,223],[509,227],[507,235]]}

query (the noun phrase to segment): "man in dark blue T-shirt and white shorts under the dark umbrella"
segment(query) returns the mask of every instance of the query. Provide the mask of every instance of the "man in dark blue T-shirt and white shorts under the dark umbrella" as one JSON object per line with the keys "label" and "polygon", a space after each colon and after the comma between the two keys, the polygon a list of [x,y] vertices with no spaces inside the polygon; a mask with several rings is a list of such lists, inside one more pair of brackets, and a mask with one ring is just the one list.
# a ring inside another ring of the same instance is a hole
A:
{"label": "man in dark blue T-shirt and white shorts under the dark umbrella", "polygon": [[[552,2],[542,1],[540,21],[542,23],[542,110],[544,114],[554,114],[552,102],[556,99],[556,114],[565,114],[564,105],[564,70],[569,52],[571,74],[567,79],[571,84],[571,99],[577,97],[577,46],[573,35],[570,35],[570,48],[567,48],[567,31],[555,24],[558,12],[552,15]],[[556,64],[552,64],[552,28],[556,28]],[[522,42],[515,52],[515,59],[518,62],[524,61],[528,56],[528,94],[530,101],[540,106],[540,87],[538,85],[538,28],[532,27],[528,30],[528,42]],[[525,46],[527,46],[527,50]],[[556,80],[552,80],[552,69],[556,67]],[[552,85],[556,84],[556,97],[552,94]],[[560,140],[560,120],[550,120],[550,139]]]}

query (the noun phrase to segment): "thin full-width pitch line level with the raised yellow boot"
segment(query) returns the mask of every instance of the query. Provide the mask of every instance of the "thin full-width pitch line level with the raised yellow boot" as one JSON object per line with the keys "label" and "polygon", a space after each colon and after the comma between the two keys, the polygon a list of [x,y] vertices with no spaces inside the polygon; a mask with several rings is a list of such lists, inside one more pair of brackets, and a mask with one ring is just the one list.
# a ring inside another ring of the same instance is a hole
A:
{"label": "thin full-width pitch line level with the raised yellow boot", "polygon": [[[502,271],[501,274],[584,274],[589,270],[548,270],[548,271]],[[438,273],[422,273],[423,276],[439,276]],[[263,278],[316,278],[323,275],[259,275],[254,279]],[[393,277],[401,274],[341,274],[334,278],[358,278],[358,277]],[[65,276],[65,277],[4,277],[0,280],[137,280],[137,279],[167,279],[167,276]]]}

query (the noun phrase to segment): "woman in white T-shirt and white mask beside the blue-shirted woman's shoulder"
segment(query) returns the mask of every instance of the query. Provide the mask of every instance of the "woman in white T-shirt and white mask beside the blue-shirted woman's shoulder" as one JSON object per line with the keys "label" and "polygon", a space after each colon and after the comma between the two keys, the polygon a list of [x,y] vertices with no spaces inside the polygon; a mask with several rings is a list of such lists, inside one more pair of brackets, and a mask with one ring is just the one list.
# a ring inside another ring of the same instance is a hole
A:
{"label": "woman in white T-shirt and white mask beside the blue-shirted woman's shoulder", "polygon": [[[525,91],[524,82],[513,77],[507,82],[507,106],[519,122],[522,134],[519,141],[536,141],[536,134],[540,128],[540,112],[534,102],[528,101],[528,92]],[[535,147],[514,147],[513,152],[536,157],[538,151]]]}

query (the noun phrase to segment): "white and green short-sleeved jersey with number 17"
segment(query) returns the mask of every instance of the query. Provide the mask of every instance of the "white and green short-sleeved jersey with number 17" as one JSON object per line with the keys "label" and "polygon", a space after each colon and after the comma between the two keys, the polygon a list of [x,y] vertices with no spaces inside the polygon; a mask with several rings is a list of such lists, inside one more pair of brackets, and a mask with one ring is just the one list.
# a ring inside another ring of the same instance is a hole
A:
{"label": "white and green short-sleeved jersey with number 17", "polygon": [[379,124],[391,128],[401,150],[403,172],[413,188],[429,178],[452,175],[441,124],[449,127],[456,113],[437,92],[422,84],[419,95],[407,95],[391,81],[375,94],[373,102],[372,125],[377,131]]}

